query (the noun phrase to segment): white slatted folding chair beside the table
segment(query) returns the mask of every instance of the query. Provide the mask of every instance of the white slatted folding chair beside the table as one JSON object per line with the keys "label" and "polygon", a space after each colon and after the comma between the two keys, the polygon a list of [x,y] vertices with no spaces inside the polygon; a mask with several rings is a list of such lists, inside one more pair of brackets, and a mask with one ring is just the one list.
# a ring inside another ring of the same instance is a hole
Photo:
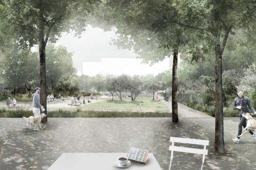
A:
{"label": "white slatted folding chair beside the table", "polygon": [[[201,170],[203,169],[205,155],[208,154],[208,150],[206,150],[206,146],[209,146],[209,140],[170,137],[170,141],[172,142],[172,145],[169,147],[169,150],[172,151],[172,152],[171,152],[169,170],[171,169],[171,166],[172,166],[173,151],[187,152],[187,153],[191,153],[191,154],[201,154],[201,155],[203,155],[203,162],[202,162]],[[174,142],[188,143],[188,144],[194,144],[194,145],[203,145],[204,149],[196,149],[196,148],[188,148],[188,147],[177,147],[177,146],[174,146]]]}

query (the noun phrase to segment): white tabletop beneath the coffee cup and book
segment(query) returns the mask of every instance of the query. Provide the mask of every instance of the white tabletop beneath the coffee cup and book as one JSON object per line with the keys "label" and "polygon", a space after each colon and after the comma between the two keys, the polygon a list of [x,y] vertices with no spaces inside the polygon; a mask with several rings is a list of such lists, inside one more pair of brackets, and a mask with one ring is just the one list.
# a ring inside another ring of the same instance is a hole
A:
{"label": "white tabletop beneath the coffee cup and book", "polygon": [[146,165],[134,163],[126,168],[115,167],[119,157],[127,153],[63,153],[48,170],[161,170],[156,158],[149,153]]}

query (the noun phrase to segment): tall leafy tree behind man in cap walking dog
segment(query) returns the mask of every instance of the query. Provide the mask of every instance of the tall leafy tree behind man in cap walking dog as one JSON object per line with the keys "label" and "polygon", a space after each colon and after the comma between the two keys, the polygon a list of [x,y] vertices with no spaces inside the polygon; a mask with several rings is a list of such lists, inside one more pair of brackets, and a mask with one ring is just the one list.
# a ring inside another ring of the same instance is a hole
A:
{"label": "tall leafy tree behind man in cap walking dog", "polygon": [[46,108],[46,69],[45,47],[48,41],[54,43],[63,31],[75,31],[79,35],[84,31],[85,16],[90,13],[99,0],[93,1],[8,1],[3,10],[10,32],[17,33],[20,46],[38,45],[40,58],[41,104]]}

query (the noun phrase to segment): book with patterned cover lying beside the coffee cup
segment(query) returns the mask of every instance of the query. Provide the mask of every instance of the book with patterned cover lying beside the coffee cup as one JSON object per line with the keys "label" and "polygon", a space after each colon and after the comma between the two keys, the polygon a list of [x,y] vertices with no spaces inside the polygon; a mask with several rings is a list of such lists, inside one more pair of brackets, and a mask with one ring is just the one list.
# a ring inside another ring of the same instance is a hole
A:
{"label": "book with patterned cover lying beside the coffee cup", "polygon": [[131,147],[126,157],[132,162],[146,164],[148,160],[148,151],[149,149]]}

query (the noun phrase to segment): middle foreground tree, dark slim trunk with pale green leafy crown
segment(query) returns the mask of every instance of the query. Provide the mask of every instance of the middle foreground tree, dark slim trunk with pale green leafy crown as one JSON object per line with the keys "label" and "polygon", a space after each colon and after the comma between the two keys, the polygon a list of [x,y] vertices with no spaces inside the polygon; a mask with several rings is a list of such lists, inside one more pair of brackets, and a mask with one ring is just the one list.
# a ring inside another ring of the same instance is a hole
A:
{"label": "middle foreground tree, dark slim trunk with pale green leafy crown", "polygon": [[[158,62],[173,54],[172,120],[178,122],[178,53],[188,44],[191,29],[178,24],[185,20],[179,1],[106,1],[100,11],[117,28],[119,43],[133,48],[145,62]],[[196,37],[196,36],[195,36]],[[190,37],[192,39],[194,37]],[[193,39],[194,40],[194,39]],[[199,40],[196,38],[194,41]],[[191,41],[191,42],[194,42]],[[190,43],[194,45],[196,43]]]}

